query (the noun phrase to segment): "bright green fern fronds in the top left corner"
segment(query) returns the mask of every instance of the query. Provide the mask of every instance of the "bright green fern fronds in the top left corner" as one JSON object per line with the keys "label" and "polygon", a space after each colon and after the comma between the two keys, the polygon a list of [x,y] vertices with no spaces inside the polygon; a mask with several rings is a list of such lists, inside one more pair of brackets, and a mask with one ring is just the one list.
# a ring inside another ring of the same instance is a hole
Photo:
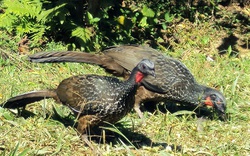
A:
{"label": "bright green fern fronds in the top left corner", "polygon": [[45,25],[49,13],[42,11],[40,0],[5,0],[2,7],[4,13],[0,14],[0,27],[18,36],[30,34],[32,39],[38,41],[48,27]]}

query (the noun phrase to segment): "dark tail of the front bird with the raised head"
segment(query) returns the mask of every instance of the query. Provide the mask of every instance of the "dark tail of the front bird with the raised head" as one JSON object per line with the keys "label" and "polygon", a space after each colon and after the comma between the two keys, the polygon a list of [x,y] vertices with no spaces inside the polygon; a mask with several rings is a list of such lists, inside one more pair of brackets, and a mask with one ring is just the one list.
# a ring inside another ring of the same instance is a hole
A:
{"label": "dark tail of the front bird with the raised head", "polygon": [[54,98],[55,100],[58,100],[56,90],[41,90],[24,93],[8,99],[5,103],[1,105],[3,108],[14,109],[24,107],[27,104],[48,98]]}

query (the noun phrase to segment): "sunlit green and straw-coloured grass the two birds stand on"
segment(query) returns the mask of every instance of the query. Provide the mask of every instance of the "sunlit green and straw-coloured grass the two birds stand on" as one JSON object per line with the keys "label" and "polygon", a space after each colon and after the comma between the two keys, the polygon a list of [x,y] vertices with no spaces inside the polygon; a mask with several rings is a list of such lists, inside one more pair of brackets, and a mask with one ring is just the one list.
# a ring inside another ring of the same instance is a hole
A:
{"label": "sunlit green and straw-coloured grass the two birds stand on", "polygon": [[[220,55],[217,47],[228,34],[214,23],[183,22],[176,27],[180,43],[171,43],[174,50],[164,53],[186,64],[198,82],[224,93],[229,121],[156,111],[144,112],[142,124],[131,112],[115,128],[106,128],[117,133],[115,141],[91,142],[90,148],[72,126],[70,110],[44,100],[27,106],[26,116],[0,108],[0,155],[250,155],[250,60],[231,56],[227,48]],[[249,36],[241,35],[243,40]],[[72,75],[106,75],[98,66],[88,64],[32,64],[26,56],[13,52],[14,44],[1,47],[5,47],[1,53],[10,59],[0,60],[0,102],[24,92],[55,88]],[[45,50],[55,47],[63,49],[50,44]],[[176,147],[170,150],[168,145]]]}

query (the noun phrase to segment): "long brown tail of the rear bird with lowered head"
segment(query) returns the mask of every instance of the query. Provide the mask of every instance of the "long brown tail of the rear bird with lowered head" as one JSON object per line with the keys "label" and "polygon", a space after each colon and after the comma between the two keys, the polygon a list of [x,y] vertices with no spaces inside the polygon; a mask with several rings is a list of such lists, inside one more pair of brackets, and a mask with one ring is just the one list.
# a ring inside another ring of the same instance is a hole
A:
{"label": "long brown tail of the rear bird with lowered head", "polygon": [[90,54],[76,51],[61,52],[39,52],[29,56],[31,62],[53,63],[53,62],[84,62],[102,65],[102,55]]}

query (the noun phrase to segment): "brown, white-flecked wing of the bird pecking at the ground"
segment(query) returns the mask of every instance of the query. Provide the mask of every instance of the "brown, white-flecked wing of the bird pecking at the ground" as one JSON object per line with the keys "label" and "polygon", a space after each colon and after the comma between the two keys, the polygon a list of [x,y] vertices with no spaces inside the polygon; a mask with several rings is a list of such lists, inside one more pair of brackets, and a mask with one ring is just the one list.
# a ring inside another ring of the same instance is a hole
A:
{"label": "brown, white-flecked wing of the bird pecking at the ground", "polygon": [[142,59],[149,59],[155,64],[156,77],[148,76],[142,83],[151,91],[166,93],[176,88],[184,90],[196,81],[180,61],[166,57],[159,51],[146,46],[117,46],[104,51],[115,62],[131,71]]}

